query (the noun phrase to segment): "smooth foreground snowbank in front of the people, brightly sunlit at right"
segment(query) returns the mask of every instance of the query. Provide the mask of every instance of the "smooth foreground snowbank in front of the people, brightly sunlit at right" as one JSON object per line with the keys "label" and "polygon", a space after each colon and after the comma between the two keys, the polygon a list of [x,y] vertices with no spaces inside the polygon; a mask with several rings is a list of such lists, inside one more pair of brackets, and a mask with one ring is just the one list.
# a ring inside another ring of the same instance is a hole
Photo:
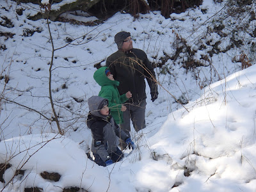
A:
{"label": "smooth foreground snowbank in front of the people, brightly sunlit at right", "polygon": [[[253,65],[211,84],[200,99],[186,105],[189,113],[179,109],[165,122],[158,118],[140,138],[136,135],[136,151],[130,156],[125,151],[127,157],[106,168],[60,135],[1,141],[1,162],[10,159],[12,164],[4,180],[16,169],[24,170],[4,191],[62,191],[70,186],[81,191],[255,191],[255,72]],[[61,176],[45,180],[40,176],[44,172]]]}

